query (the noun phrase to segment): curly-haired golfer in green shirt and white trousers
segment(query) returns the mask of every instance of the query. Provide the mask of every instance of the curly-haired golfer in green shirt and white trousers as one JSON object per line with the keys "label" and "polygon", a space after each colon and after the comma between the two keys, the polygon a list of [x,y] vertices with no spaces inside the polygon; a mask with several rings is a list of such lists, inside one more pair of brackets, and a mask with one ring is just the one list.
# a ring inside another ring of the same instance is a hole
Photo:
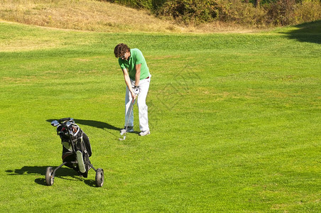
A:
{"label": "curly-haired golfer in green shirt and white trousers", "polygon": [[[134,113],[130,113],[129,109],[131,101],[137,98],[139,129],[141,130],[139,135],[147,136],[151,133],[148,126],[148,107],[146,105],[151,74],[146,60],[141,50],[137,48],[131,49],[124,43],[116,45],[114,55],[118,58],[119,66],[123,71],[126,83],[125,125],[124,129],[121,129],[121,133],[126,133],[126,131],[134,132]],[[133,107],[131,107],[131,109],[133,109]],[[126,124],[128,125],[126,126]]]}

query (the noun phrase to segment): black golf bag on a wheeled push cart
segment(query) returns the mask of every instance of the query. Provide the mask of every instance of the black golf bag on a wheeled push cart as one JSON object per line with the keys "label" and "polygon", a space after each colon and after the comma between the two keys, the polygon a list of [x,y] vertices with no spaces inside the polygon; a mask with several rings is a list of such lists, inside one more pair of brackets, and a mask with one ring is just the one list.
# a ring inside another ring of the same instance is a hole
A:
{"label": "black golf bag on a wheeled push cart", "polygon": [[66,165],[74,169],[80,177],[87,178],[88,170],[91,168],[96,172],[96,185],[102,187],[104,185],[104,170],[102,168],[95,169],[90,163],[89,157],[92,155],[92,147],[89,138],[75,121],[70,118],[52,121],[52,126],[57,126],[57,134],[61,138],[62,143],[62,164],[53,169],[48,167],[45,172],[45,182],[47,185],[53,185],[55,172]]}

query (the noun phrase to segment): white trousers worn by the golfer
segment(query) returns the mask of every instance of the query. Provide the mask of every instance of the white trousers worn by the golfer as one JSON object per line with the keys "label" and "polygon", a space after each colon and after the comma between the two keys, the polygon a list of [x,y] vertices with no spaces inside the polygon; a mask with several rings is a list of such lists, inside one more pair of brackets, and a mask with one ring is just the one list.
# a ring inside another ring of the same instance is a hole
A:
{"label": "white trousers worn by the golfer", "polygon": [[[138,114],[139,114],[139,129],[141,129],[141,131],[149,130],[148,107],[146,105],[146,97],[147,97],[150,82],[151,82],[151,75],[149,78],[146,78],[144,80],[139,80],[139,88],[140,88],[141,92],[139,92],[138,97],[136,98],[136,101],[137,101]],[[134,87],[135,81],[131,80],[131,85]],[[128,126],[134,126],[134,113],[133,113],[133,111],[131,112],[131,117],[128,118],[129,114],[130,114],[129,107],[131,106],[132,99],[133,98],[131,97],[131,92],[129,92],[128,87],[126,87],[125,127],[126,127],[128,119],[129,119]]]}

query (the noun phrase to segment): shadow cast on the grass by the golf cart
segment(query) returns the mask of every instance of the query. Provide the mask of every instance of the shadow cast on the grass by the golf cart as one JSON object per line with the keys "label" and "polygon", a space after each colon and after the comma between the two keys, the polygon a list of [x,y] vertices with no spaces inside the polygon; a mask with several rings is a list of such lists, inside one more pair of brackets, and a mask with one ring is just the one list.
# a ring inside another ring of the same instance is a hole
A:
{"label": "shadow cast on the grass by the golf cart", "polygon": [[[47,167],[48,166],[23,166],[23,168],[21,169],[6,170],[6,173],[8,173],[8,175],[42,175],[43,178],[36,178],[35,182],[39,185],[46,185],[45,171]],[[53,169],[55,168],[56,167],[53,167]],[[71,168],[59,168],[55,173],[55,178],[61,178],[71,181],[83,181],[86,185],[89,185],[90,187],[95,187],[94,180],[86,180],[84,178],[80,178],[78,174],[75,172],[75,170],[72,170]]]}

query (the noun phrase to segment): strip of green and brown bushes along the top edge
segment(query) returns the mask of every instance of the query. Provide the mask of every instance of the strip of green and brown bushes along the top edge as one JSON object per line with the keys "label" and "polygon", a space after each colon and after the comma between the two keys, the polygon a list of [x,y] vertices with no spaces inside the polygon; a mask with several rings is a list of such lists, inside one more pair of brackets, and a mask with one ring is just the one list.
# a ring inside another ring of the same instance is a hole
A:
{"label": "strip of green and brown bushes along the top edge", "polygon": [[321,19],[320,0],[102,0],[148,9],[178,23],[220,21],[242,26],[288,26]]}

